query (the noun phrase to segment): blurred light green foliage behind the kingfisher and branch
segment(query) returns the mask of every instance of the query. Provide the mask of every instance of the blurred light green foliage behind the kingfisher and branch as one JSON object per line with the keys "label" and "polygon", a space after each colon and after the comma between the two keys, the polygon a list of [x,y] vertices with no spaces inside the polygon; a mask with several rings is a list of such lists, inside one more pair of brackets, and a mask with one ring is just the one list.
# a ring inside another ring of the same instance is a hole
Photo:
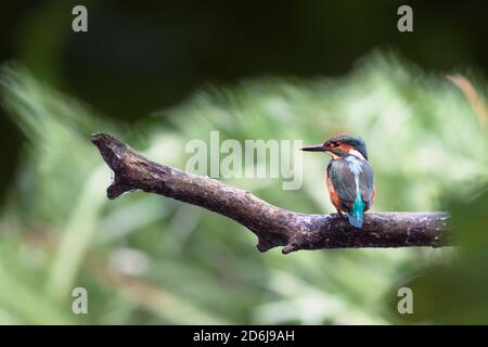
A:
{"label": "blurred light green foliage behind the kingfisher and branch", "polygon": [[[211,130],[221,141],[304,144],[356,133],[375,170],[373,210],[441,209],[446,196],[488,179],[486,129],[463,94],[389,55],[337,79],[209,87],[130,129],[18,66],[1,73],[1,102],[28,140],[0,219],[1,323],[391,323],[400,319],[397,290],[438,264],[448,279],[458,257],[414,248],[260,254],[252,233],[197,207],[140,192],[106,200],[111,172],[88,141],[94,131],[182,169],[187,142],[208,141]],[[329,213],[325,164],[304,155],[297,191],[283,191],[280,179],[227,181],[284,208]],[[88,290],[88,316],[70,311],[77,286]],[[414,321],[438,321],[437,311]]]}

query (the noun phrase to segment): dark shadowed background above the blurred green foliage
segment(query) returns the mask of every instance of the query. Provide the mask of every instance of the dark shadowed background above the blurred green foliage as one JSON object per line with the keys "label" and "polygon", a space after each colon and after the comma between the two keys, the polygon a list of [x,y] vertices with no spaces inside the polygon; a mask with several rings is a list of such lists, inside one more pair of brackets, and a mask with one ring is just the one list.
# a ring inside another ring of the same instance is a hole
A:
{"label": "dark shadowed background above the blurred green foliage", "polygon": [[[89,33],[70,30],[86,4]],[[411,4],[414,31],[397,30]],[[8,1],[0,61],[15,60],[114,119],[134,121],[207,82],[262,75],[337,76],[374,49],[428,70],[488,70],[486,1]],[[1,155],[21,134],[0,117]],[[4,187],[14,165],[1,174]]]}

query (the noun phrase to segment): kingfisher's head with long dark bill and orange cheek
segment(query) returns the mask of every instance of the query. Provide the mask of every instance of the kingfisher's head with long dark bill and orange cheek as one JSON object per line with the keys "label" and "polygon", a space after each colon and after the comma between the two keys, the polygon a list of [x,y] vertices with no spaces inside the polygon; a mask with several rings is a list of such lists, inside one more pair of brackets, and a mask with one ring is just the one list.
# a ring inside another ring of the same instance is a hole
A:
{"label": "kingfisher's head with long dark bill and orange cheek", "polygon": [[368,160],[364,140],[351,134],[337,134],[326,140],[323,144],[303,147],[301,151],[324,152],[334,159],[356,155],[361,159]]}

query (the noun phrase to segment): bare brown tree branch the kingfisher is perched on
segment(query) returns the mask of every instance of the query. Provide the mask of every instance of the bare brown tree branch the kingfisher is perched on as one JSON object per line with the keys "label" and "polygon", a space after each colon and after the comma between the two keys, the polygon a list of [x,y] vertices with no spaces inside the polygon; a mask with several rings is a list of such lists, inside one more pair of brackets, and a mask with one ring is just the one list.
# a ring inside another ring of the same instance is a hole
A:
{"label": "bare brown tree branch the kingfisher is perched on", "polygon": [[142,190],[204,207],[248,228],[266,252],[283,246],[299,249],[360,247],[441,247],[449,244],[447,213],[369,213],[362,229],[354,229],[337,214],[293,213],[217,180],[153,163],[106,133],[91,142],[114,171],[108,198]]}

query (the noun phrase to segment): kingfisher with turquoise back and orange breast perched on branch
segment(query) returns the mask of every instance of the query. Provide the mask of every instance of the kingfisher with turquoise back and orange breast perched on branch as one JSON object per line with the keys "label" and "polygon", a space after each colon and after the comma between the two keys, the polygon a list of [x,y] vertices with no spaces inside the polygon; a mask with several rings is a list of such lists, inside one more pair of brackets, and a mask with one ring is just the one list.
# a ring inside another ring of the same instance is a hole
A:
{"label": "kingfisher with turquoise back and orange breast perched on branch", "polygon": [[303,147],[301,151],[322,152],[332,159],[326,169],[326,185],[331,202],[341,217],[348,215],[349,223],[360,229],[364,213],[373,205],[374,175],[368,163],[364,140],[351,134],[337,134],[323,144]]}

